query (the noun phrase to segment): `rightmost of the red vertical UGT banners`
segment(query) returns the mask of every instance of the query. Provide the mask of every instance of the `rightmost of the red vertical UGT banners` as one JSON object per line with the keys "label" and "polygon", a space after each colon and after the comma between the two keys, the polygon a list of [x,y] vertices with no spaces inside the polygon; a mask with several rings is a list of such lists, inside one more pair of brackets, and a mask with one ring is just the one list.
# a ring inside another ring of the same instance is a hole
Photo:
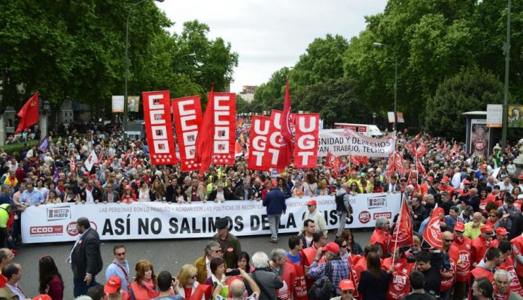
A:
{"label": "rightmost of the red vertical UGT banners", "polygon": [[296,114],[294,167],[316,167],[318,158],[319,114]]}

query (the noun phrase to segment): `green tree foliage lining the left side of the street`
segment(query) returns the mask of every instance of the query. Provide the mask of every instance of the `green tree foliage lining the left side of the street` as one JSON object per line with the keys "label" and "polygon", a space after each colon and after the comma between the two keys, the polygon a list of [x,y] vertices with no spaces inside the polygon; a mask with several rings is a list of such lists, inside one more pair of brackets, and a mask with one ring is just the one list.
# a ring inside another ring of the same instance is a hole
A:
{"label": "green tree foliage lining the left side of the street", "polygon": [[169,33],[173,23],[153,1],[20,0],[1,7],[0,112],[21,107],[36,90],[52,107],[71,98],[109,112],[111,96],[124,93],[128,12],[130,95],[160,89],[205,95],[213,82],[223,91],[238,64],[230,43],[208,38],[206,24],[186,22],[179,35]]}

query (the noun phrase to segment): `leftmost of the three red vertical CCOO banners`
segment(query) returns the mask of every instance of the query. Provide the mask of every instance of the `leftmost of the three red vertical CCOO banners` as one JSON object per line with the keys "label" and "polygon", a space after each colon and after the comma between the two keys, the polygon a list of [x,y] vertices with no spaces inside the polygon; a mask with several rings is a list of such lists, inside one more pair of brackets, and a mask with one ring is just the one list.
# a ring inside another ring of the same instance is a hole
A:
{"label": "leftmost of the three red vertical CCOO banners", "polygon": [[172,132],[169,91],[144,91],[142,99],[151,164],[174,165],[178,163]]}

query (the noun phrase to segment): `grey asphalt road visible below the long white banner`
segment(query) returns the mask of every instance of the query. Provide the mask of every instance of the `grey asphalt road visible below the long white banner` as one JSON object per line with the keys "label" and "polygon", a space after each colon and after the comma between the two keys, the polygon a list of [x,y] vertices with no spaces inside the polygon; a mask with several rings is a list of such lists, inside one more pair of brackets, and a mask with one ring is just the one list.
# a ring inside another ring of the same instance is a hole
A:
{"label": "grey asphalt road visible below the long white banner", "polygon": [[[372,231],[359,230],[354,232],[354,238],[362,246],[365,246],[370,239]],[[242,250],[250,255],[262,250],[270,253],[273,248],[280,247],[288,250],[287,240],[292,234],[280,234],[280,241],[277,244],[268,241],[269,236],[240,237]],[[334,234],[329,234],[329,239],[334,239]],[[134,276],[134,265],[138,260],[146,259],[153,263],[155,273],[160,271],[170,271],[174,276],[178,274],[183,264],[192,264],[198,257],[204,254],[204,247],[209,239],[176,239],[176,240],[133,240],[125,241],[123,244],[127,248],[127,259],[131,266],[131,273]],[[103,241],[101,250],[105,266],[112,262],[112,248],[122,241]],[[38,259],[43,255],[52,255],[56,265],[62,275],[66,290],[64,298],[73,299],[73,272],[70,265],[66,263],[70,248],[73,242],[69,243],[39,243],[26,244],[18,249],[15,262],[22,264],[24,269],[20,286],[26,292],[27,297],[38,295]],[[105,267],[96,280],[98,283],[105,283]]]}

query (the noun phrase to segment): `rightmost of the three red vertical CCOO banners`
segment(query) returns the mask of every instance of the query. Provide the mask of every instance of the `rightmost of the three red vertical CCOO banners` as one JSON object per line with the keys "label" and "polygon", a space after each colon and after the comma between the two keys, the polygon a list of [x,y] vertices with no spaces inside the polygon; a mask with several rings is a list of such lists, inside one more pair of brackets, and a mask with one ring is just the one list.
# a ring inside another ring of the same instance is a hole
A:
{"label": "rightmost of the three red vertical CCOO banners", "polygon": [[236,142],[236,94],[214,93],[213,159],[214,165],[234,165]]}

